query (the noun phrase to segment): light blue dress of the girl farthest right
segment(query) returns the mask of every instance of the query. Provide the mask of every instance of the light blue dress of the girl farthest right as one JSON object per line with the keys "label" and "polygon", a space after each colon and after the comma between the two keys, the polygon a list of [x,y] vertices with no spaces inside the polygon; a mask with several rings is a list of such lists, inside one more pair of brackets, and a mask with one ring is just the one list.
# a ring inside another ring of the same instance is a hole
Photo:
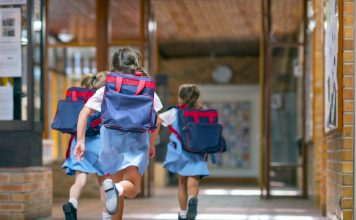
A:
{"label": "light blue dress of the girl farthest right", "polygon": [[[178,120],[176,119],[172,127],[178,129]],[[208,164],[205,161],[204,154],[195,154],[185,151],[182,143],[175,134],[170,135],[166,159],[163,167],[172,173],[180,176],[209,176]]]}

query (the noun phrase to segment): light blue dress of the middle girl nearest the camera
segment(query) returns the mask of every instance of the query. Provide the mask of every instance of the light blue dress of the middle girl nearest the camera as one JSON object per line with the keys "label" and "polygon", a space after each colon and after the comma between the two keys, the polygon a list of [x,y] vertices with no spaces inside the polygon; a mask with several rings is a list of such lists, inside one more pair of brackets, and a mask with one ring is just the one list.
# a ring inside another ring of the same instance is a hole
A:
{"label": "light blue dress of the middle girl nearest the camera", "polygon": [[114,174],[129,166],[143,175],[149,163],[148,132],[128,132],[101,126],[99,163],[105,174]]}

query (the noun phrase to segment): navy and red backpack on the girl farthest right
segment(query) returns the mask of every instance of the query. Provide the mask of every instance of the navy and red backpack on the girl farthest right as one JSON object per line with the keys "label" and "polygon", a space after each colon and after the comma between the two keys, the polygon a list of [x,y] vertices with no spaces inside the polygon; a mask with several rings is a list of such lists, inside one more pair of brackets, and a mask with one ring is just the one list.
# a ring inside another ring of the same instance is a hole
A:
{"label": "navy and red backpack on the girl farthest right", "polygon": [[169,126],[171,133],[182,142],[184,150],[198,154],[212,154],[226,151],[223,127],[218,123],[215,109],[191,109],[174,106],[177,109],[178,131]]}

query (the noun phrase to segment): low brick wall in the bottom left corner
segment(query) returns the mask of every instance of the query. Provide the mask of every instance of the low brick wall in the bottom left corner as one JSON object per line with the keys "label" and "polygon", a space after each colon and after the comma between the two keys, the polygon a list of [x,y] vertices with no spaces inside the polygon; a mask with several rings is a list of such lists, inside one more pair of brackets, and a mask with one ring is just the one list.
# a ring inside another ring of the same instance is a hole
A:
{"label": "low brick wall in the bottom left corner", "polygon": [[0,219],[50,217],[52,171],[43,167],[0,168]]}

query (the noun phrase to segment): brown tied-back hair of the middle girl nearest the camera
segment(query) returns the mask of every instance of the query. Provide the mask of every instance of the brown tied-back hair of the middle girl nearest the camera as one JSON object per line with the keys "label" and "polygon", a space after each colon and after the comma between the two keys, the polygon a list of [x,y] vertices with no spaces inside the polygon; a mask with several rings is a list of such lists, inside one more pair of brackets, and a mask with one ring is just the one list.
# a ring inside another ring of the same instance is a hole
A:
{"label": "brown tied-back hair of the middle girl nearest the camera", "polygon": [[141,54],[131,47],[124,47],[117,50],[111,58],[112,72],[123,72],[126,74],[134,74],[141,72],[148,75],[147,71],[140,66]]}

